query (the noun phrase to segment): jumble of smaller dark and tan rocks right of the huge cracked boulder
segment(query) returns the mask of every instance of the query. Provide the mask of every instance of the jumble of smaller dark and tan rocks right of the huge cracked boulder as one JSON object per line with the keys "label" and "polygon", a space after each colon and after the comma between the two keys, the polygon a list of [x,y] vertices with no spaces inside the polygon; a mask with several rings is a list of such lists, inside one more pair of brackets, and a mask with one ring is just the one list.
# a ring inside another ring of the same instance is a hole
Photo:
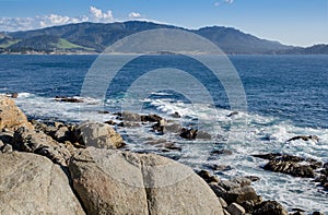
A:
{"label": "jumble of smaller dark and tan rocks right of the huge cracked boulder", "polygon": [[219,198],[224,214],[256,214],[256,215],[288,215],[288,211],[276,201],[262,201],[256,193],[251,182],[257,177],[237,177],[231,180],[221,180],[207,170],[197,171]]}

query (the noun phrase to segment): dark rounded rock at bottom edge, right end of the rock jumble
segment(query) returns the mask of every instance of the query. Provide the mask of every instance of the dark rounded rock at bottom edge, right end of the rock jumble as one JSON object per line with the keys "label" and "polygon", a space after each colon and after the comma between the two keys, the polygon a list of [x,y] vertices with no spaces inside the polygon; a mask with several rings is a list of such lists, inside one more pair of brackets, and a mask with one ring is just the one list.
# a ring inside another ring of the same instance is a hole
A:
{"label": "dark rounded rock at bottom edge, right end of the rock jumble", "polygon": [[288,211],[276,201],[266,201],[256,206],[254,215],[288,215]]}

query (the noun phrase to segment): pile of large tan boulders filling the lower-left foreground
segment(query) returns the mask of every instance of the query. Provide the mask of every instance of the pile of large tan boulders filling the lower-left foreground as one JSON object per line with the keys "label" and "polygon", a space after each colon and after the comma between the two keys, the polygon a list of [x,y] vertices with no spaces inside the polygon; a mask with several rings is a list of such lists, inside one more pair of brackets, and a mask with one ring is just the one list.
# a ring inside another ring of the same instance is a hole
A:
{"label": "pile of large tan boulders filling the lower-left foreground", "polygon": [[223,215],[192,169],[115,150],[124,142],[109,124],[32,124],[8,98],[0,104],[0,214]]}

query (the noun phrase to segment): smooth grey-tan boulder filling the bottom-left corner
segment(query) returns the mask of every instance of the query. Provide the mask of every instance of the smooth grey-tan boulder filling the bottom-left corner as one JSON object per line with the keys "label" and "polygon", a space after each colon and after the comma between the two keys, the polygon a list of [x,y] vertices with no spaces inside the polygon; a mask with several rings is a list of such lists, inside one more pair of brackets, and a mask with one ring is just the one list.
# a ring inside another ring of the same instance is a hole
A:
{"label": "smooth grey-tan boulder filling the bottom-left corner", "polygon": [[61,168],[31,153],[0,155],[0,214],[85,214]]}

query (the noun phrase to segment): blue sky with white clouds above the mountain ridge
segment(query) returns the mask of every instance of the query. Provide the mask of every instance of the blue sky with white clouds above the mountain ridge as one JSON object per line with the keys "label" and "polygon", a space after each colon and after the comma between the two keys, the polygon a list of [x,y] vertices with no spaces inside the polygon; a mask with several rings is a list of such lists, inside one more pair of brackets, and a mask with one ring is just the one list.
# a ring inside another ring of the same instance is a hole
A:
{"label": "blue sky with white clouds above the mountain ridge", "polygon": [[328,0],[0,0],[0,32],[129,20],[229,26],[294,46],[328,44]]}

